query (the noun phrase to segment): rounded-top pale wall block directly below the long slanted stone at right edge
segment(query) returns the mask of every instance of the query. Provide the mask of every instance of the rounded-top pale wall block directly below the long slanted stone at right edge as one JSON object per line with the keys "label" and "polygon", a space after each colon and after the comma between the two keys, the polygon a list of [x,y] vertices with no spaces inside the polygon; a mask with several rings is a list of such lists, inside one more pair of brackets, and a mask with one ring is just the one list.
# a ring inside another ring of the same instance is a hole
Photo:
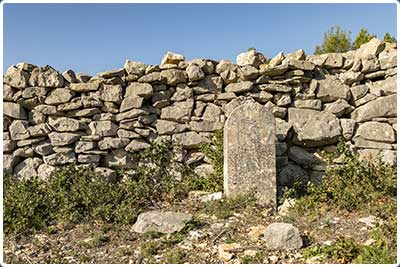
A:
{"label": "rounded-top pale wall block directly below the long slanted stone at right edge", "polygon": [[359,124],[355,137],[386,143],[393,143],[396,141],[396,135],[392,126],[388,123],[376,121],[368,121]]}

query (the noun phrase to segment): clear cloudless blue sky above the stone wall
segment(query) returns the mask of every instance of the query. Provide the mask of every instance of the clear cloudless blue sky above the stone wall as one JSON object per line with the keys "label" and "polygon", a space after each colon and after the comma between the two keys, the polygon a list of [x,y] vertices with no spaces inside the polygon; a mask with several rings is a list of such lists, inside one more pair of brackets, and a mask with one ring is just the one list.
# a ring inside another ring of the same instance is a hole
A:
{"label": "clear cloudless blue sky above the stone wall", "polygon": [[396,4],[4,4],[3,67],[95,74],[125,59],[159,64],[168,50],[231,61],[249,47],[311,54],[334,25],[353,39],[362,27],[396,36]]}

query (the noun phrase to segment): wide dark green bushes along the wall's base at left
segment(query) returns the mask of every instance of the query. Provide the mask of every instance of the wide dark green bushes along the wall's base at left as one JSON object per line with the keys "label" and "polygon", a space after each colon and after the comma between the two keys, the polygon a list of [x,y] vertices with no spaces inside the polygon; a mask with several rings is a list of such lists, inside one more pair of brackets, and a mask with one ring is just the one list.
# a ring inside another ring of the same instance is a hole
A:
{"label": "wide dark green bushes along the wall's base at left", "polygon": [[[99,219],[133,223],[144,209],[160,201],[179,201],[195,188],[195,176],[173,161],[171,144],[158,143],[138,154],[141,162],[124,179],[110,183],[88,167],[69,165],[48,180],[19,180],[4,175],[4,230],[30,232],[62,220]],[[184,178],[172,173],[182,171]],[[186,175],[186,176],[185,176]]]}

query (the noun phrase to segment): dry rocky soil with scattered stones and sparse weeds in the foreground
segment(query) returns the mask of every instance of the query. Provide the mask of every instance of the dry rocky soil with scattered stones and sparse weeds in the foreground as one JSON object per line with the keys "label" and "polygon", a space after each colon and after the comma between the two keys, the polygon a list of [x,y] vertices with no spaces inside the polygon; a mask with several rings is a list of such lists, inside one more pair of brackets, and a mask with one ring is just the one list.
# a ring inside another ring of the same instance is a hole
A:
{"label": "dry rocky soil with scattered stones and sparse weeds in the foreground", "polygon": [[[223,216],[225,218],[218,218],[212,213],[220,214],[221,210],[215,208],[210,212],[205,208],[209,207],[209,202],[201,201],[198,196],[198,192],[193,192],[180,203],[160,204],[157,208],[157,211],[192,215],[179,232],[137,233],[132,225],[98,221],[75,226],[59,223],[30,237],[6,236],[4,259],[6,263],[27,264],[319,263],[318,257],[303,256],[305,247],[329,245],[339,237],[351,237],[359,244],[374,242],[368,238],[368,232],[374,227],[373,218],[366,214],[329,211],[318,218],[292,217],[286,208],[281,207],[276,212],[249,203],[245,207],[233,207],[230,214]],[[275,222],[286,222],[298,228],[302,247],[268,249],[264,233]],[[182,228],[179,223],[178,228]]]}

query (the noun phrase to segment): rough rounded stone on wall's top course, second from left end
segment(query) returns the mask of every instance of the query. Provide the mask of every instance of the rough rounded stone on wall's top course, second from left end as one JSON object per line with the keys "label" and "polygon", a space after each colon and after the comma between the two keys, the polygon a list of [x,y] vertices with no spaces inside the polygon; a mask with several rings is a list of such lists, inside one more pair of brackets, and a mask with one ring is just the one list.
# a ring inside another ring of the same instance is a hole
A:
{"label": "rough rounded stone on wall's top course, second from left end", "polygon": [[62,87],[64,78],[58,71],[46,65],[32,70],[29,84],[41,87]]}

